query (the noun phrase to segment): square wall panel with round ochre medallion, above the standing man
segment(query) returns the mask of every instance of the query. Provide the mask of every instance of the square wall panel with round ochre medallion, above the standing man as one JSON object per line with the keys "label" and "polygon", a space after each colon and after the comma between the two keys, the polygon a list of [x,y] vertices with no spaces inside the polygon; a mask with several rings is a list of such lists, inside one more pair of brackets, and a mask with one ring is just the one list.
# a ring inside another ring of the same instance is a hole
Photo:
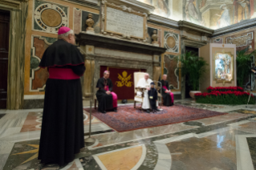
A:
{"label": "square wall panel with round ochre medallion, above the standing man", "polygon": [[61,26],[68,26],[68,7],[35,0],[33,29],[56,34]]}

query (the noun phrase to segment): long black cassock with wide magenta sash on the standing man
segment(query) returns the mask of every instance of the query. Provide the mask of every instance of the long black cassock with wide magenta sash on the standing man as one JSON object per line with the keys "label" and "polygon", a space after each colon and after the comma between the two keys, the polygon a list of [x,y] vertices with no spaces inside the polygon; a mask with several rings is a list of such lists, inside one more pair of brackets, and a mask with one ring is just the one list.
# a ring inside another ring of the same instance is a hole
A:
{"label": "long black cassock with wide magenta sash on the standing man", "polygon": [[43,122],[39,145],[42,163],[67,164],[84,148],[83,99],[79,76],[85,71],[77,47],[58,40],[44,52],[47,67]]}

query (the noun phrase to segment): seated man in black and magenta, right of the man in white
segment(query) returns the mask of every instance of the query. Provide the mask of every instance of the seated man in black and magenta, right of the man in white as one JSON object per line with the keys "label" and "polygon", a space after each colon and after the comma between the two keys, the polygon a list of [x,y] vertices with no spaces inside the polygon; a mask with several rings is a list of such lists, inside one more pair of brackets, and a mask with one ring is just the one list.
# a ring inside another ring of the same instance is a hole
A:
{"label": "seated man in black and magenta, right of the man in white", "polygon": [[[166,81],[167,75],[162,76],[161,84],[162,84],[162,97],[164,99],[165,106],[173,106],[174,96],[172,91],[169,88],[169,83]],[[160,87],[160,83],[158,84]]]}

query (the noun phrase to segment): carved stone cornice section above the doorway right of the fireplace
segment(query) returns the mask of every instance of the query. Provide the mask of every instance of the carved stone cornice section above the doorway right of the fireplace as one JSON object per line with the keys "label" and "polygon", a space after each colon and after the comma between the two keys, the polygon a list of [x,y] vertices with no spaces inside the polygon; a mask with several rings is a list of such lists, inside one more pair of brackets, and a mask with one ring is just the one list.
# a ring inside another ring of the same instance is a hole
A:
{"label": "carved stone cornice section above the doorway right of the fireplace", "polygon": [[178,25],[180,30],[185,30],[191,34],[199,34],[209,37],[214,32],[214,30],[206,28],[205,26],[198,26],[197,24],[186,21],[179,21]]}

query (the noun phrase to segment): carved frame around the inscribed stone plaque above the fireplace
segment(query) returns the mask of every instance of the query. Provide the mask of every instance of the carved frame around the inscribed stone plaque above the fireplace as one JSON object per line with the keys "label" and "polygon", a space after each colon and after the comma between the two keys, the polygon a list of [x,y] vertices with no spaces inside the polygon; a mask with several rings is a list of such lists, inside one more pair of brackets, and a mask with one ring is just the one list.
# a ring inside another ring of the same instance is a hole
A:
{"label": "carved frame around the inscribed stone plaque above the fireplace", "polygon": [[131,38],[138,38],[138,39],[145,39],[146,38],[146,34],[145,34],[145,29],[146,29],[146,22],[147,22],[147,18],[146,16],[144,16],[144,14],[141,14],[141,13],[138,13],[138,12],[128,12],[126,10],[123,10],[121,7],[119,6],[115,6],[115,5],[112,5],[110,3],[105,3],[105,6],[104,6],[104,13],[105,13],[105,18],[104,18],[104,32],[108,32],[108,33],[112,33],[112,34],[120,34],[120,35],[123,35],[119,32],[114,32],[114,31],[111,31],[111,30],[107,30],[107,6],[108,7],[111,7],[111,8],[114,8],[116,10],[121,10],[121,11],[124,11],[124,12],[127,12],[128,14],[136,14],[140,17],[143,17],[144,18],[144,22],[143,22],[143,38],[141,37],[136,37],[136,36],[131,36]]}

